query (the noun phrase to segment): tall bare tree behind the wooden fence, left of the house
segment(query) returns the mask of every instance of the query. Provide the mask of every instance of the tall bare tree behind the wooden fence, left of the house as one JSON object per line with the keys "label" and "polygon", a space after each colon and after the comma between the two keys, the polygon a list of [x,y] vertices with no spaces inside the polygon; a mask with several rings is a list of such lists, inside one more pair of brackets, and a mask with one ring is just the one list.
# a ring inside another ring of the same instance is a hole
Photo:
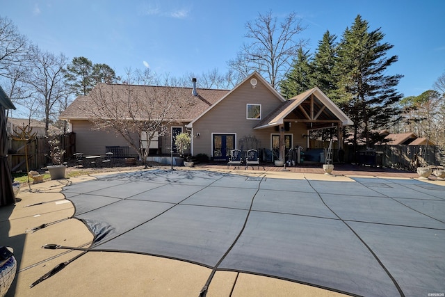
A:
{"label": "tall bare tree behind the wooden fence, left of the house", "polygon": [[34,89],[35,99],[38,99],[44,113],[45,131],[49,122],[58,116],[60,100],[65,100],[68,86],[65,79],[67,58],[49,51],[41,51],[36,46],[29,48],[31,54],[31,69],[26,83]]}

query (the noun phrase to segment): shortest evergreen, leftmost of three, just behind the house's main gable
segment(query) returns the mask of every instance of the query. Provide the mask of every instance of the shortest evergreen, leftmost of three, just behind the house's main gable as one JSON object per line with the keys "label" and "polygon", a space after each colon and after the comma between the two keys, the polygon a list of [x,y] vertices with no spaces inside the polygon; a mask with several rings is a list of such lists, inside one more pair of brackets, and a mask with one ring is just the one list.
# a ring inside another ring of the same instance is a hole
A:
{"label": "shortest evergreen, leftmost of three, just behind the house's main gable", "polygon": [[280,89],[284,98],[292,98],[312,88],[310,56],[309,51],[304,51],[302,47],[298,49],[297,58],[293,60],[291,71],[280,82]]}

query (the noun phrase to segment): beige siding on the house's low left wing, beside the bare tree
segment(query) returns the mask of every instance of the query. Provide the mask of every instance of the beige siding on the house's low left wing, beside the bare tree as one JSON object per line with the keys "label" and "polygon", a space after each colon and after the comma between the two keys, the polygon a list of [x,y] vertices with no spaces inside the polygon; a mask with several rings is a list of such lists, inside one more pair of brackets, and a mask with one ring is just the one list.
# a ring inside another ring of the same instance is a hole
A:
{"label": "beige siding on the house's low left wing, beside the bare tree", "polygon": [[[76,133],[76,152],[86,155],[105,154],[106,146],[128,146],[129,144],[113,131],[92,129],[92,123],[86,120],[72,120],[72,131]],[[137,154],[131,147],[130,154]]]}

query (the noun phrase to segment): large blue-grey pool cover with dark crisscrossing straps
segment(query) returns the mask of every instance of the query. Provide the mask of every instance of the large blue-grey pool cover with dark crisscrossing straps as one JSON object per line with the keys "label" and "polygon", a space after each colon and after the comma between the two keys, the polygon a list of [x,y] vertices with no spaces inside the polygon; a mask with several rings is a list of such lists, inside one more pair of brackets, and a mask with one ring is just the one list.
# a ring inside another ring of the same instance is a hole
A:
{"label": "large blue-grey pool cover with dark crisscrossing straps", "polygon": [[419,180],[147,170],[63,193],[95,235],[90,250],[168,257],[355,296],[445,292],[445,191]]}

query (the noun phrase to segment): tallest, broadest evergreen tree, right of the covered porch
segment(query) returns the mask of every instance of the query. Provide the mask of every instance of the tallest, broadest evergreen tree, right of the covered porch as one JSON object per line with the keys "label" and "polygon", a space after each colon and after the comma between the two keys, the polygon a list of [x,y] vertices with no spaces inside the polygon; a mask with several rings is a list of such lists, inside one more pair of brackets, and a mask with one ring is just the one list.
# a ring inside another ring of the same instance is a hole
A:
{"label": "tallest, broadest evergreen tree, right of the covered porch", "polygon": [[376,140],[375,130],[388,127],[403,97],[395,89],[402,76],[385,74],[398,56],[387,58],[393,45],[382,43],[384,37],[380,29],[369,32],[368,22],[357,15],[339,44],[334,67],[339,78],[337,103],[354,122],[355,148],[357,138],[366,139],[367,146]]}

